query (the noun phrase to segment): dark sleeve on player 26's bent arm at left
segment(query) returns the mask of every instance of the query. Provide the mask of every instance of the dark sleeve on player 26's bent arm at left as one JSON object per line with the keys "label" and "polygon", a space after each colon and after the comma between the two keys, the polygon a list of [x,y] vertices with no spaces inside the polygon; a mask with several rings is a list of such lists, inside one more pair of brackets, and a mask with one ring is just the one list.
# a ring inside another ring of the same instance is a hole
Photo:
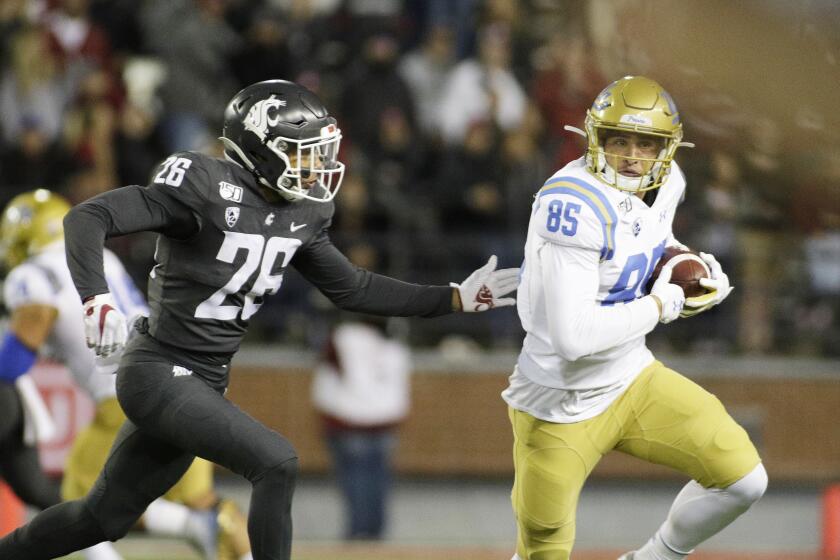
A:
{"label": "dark sleeve on player 26's bent arm at left", "polygon": [[85,299],[108,291],[106,239],[138,231],[183,239],[199,227],[195,214],[162,188],[123,187],[79,204],[64,218],[67,265],[79,295]]}

